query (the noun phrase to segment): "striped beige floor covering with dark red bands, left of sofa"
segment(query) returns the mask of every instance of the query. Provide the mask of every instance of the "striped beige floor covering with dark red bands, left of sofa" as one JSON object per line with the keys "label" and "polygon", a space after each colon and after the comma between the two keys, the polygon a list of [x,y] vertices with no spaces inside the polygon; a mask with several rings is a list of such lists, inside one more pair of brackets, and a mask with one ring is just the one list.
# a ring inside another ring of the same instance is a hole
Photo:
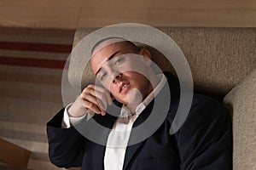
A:
{"label": "striped beige floor covering with dark red bands, left of sofa", "polygon": [[[31,150],[29,170],[49,162],[46,122],[60,110],[61,76],[73,30],[0,27],[0,137]],[[1,163],[0,169],[18,169]]]}

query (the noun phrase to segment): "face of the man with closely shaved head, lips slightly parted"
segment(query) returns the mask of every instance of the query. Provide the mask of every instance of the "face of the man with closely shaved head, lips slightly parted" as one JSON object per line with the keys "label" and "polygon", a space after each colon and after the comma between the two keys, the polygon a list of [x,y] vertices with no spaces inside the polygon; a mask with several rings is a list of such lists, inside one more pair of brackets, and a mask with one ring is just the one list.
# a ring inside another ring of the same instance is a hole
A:
{"label": "face of the man with closely shaved head, lips slightly parted", "polygon": [[[138,54],[150,59],[145,50]],[[125,42],[115,42],[98,48],[91,56],[90,65],[97,80],[113,98],[128,105],[133,100],[127,95],[131,89],[136,89],[143,99],[153,90],[147,78],[150,66],[143,57],[137,56]]]}

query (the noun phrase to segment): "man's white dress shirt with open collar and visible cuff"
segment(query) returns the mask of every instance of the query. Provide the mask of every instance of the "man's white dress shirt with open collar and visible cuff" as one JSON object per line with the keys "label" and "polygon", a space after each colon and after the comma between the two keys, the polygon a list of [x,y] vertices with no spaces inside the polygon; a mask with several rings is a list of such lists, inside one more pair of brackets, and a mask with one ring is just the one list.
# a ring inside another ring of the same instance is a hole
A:
{"label": "man's white dress shirt with open collar and visible cuff", "polygon": [[[160,82],[154,88],[154,90],[148,94],[148,96],[137,105],[135,114],[131,115],[131,111],[129,111],[126,107],[123,107],[120,113],[119,118],[113,124],[113,128],[111,132],[108,134],[108,141],[105,150],[104,156],[104,169],[105,170],[121,170],[125,161],[125,151],[128,144],[128,140],[131,134],[131,128],[133,123],[136,121],[137,117],[143,112],[143,110],[147,107],[147,105],[154,99],[154,96],[159,94],[160,90],[166,84],[166,77],[163,74],[158,75],[160,78]],[[78,124],[81,120],[84,119],[84,116],[80,117],[71,117],[68,116],[67,110],[71,106],[67,105],[63,121],[62,127],[68,128],[72,125]]]}

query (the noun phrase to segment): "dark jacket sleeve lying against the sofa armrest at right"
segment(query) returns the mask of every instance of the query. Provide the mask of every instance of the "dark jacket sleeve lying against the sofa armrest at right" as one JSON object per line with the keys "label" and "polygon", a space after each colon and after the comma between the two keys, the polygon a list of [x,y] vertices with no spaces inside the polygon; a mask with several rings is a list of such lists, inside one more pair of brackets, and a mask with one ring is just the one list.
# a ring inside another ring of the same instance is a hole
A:
{"label": "dark jacket sleeve lying against the sofa armrest at right", "polygon": [[176,137],[181,169],[232,169],[230,113],[217,101],[195,104]]}

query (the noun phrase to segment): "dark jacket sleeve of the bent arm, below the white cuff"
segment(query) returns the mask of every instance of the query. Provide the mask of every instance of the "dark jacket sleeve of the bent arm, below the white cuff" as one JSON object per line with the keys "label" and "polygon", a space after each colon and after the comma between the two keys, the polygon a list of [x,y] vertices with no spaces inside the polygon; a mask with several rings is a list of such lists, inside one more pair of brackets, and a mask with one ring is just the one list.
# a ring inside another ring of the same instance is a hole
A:
{"label": "dark jacket sleeve of the bent arm, below the white cuff", "polygon": [[49,160],[57,167],[81,167],[85,139],[75,127],[61,128],[64,109],[47,123]]}

